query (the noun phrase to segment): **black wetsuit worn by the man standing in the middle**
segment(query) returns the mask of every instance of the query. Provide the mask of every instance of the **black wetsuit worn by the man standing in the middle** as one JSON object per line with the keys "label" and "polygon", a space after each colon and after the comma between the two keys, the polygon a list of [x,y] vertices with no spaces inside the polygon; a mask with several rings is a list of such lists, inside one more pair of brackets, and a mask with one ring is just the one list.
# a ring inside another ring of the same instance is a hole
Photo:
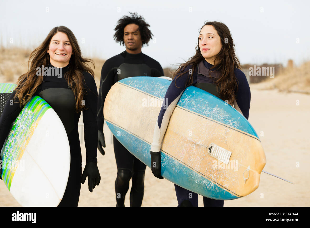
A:
{"label": "black wetsuit worn by the man standing in the middle", "polygon": [[[129,54],[123,51],[105,61],[101,70],[100,89],[98,96],[98,130],[103,130],[104,116],[103,103],[111,86],[123,78],[135,76],[164,76],[161,65],[151,57],[143,54]],[[128,117],[130,121],[130,117]],[[115,193],[117,206],[123,206],[125,195],[129,189],[129,181],[132,178],[130,192],[130,206],[141,206],[144,194],[144,172],[146,165],[135,158],[113,136],[114,154],[117,164],[117,178],[115,181]]]}

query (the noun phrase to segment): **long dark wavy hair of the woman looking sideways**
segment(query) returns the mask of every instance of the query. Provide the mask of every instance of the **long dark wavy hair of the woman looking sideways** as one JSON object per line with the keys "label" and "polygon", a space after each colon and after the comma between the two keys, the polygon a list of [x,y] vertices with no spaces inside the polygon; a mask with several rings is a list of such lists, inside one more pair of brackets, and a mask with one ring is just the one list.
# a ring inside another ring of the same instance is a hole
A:
{"label": "long dark wavy hair of the woman looking sideways", "polygon": [[[215,80],[216,83],[216,89],[220,96],[224,97],[228,100],[228,103],[233,104],[233,101],[235,100],[235,88],[238,89],[237,79],[234,74],[234,68],[240,69],[240,62],[236,56],[235,53],[235,44],[232,40],[230,31],[228,27],[217,21],[209,21],[205,22],[205,25],[212,25],[217,33],[219,34],[219,37],[221,39],[222,43],[222,49],[219,52],[219,54],[215,58],[215,64],[213,67],[209,69],[209,76],[210,72],[214,71],[215,69],[218,69],[221,71],[221,76],[219,79]],[[200,28],[203,28],[203,26]],[[225,38],[227,38],[225,43]],[[198,42],[196,46],[196,53],[193,57],[189,58],[187,62],[182,63],[179,68],[173,72],[173,77],[177,76],[180,77],[183,74],[186,74],[189,72],[183,72],[184,69],[189,66],[192,66],[192,72],[197,67],[197,64],[203,60],[204,57],[201,55],[200,48],[199,48],[199,37]],[[187,81],[187,86],[191,85],[193,83],[193,74],[190,74]]]}

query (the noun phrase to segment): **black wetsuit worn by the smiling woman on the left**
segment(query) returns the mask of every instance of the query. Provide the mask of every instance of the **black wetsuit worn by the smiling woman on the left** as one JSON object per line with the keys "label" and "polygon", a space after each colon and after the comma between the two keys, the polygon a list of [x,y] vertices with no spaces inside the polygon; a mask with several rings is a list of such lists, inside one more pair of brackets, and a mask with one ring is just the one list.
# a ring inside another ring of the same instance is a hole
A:
{"label": "black wetsuit worn by the smiling woman on the left", "polygon": [[[53,67],[51,64],[48,67]],[[59,206],[78,206],[78,200],[81,190],[82,176],[82,154],[80,140],[78,134],[78,121],[81,112],[76,113],[75,97],[71,88],[64,78],[64,74],[68,71],[69,65],[62,68],[62,75],[43,76],[43,82],[38,86],[35,95],[42,97],[60,117],[67,132],[70,145],[70,171],[64,196]],[[59,72],[59,71],[58,71]],[[86,163],[97,163],[97,141],[98,131],[96,123],[97,112],[97,87],[94,78],[88,72],[82,72],[85,81],[83,80],[85,108],[83,109],[83,122],[85,133],[86,147]],[[7,104],[4,107],[0,117],[0,148],[10,131],[11,123],[15,120],[24,106],[20,107],[19,100],[14,101],[14,105],[10,105],[10,100],[13,100],[15,91],[12,92]],[[17,103],[15,103],[17,102]],[[82,103],[83,104],[83,103]],[[61,158],[55,158],[55,160]],[[57,167],[55,167],[56,169]]]}

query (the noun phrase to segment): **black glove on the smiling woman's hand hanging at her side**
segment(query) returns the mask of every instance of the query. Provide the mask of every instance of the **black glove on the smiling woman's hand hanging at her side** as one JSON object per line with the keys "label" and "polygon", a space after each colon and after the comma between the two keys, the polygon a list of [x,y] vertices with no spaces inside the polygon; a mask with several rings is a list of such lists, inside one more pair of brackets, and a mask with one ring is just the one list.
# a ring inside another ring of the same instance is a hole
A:
{"label": "black glove on the smiling woman's hand hanging at her side", "polygon": [[95,188],[96,185],[99,185],[100,183],[100,173],[97,167],[96,162],[88,162],[85,165],[82,178],[81,178],[81,183],[84,184],[86,181],[86,176],[88,180],[88,190],[90,192],[93,192],[93,188]]}

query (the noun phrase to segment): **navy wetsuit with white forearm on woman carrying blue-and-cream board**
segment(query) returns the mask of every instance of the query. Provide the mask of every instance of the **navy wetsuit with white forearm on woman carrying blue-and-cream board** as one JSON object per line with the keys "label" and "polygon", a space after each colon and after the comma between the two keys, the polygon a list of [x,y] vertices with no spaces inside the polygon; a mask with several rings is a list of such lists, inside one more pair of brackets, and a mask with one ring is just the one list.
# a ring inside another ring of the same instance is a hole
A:
{"label": "navy wetsuit with white forearm on woman carrying blue-and-cream board", "polygon": [[[210,72],[210,76],[211,76],[210,78],[209,69],[212,66],[213,65],[208,63],[206,60],[202,60],[197,65],[197,67],[195,68],[193,72],[193,83],[191,85],[201,88],[213,94],[214,96],[217,96],[221,98],[222,100],[224,100],[222,97],[219,96],[218,92],[216,91],[216,85],[214,83],[214,80],[219,78],[221,72],[219,71],[219,69],[217,69],[217,71]],[[187,72],[190,68],[192,68],[192,65],[185,68],[183,72]],[[236,102],[242,114],[244,115],[244,117],[248,119],[249,110],[250,110],[250,98],[251,98],[249,83],[247,82],[245,74],[240,69],[235,68],[234,73],[235,73],[235,76],[237,78],[237,83],[238,83],[238,90],[235,89]],[[161,142],[166,132],[170,115],[175,109],[175,106],[178,103],[179,98],[181,97],[181,95],[183,94],[186,88],[188,77],[189,77],[189,73],[183,74],[177,79],[175,77],[167,89],[164,100],[167,99],[168,107],[164,108],[162,106],[161,111],[158,115],[157,123],[154,129],[153,143],[151,147],[152,152],[160,152]],[[175,86],[175,83],[177,86]],[[166,116],[166,118],[163,118],[164,115],[169,115],[169,116]],[[175,193],[178,199],[178,204],[179,204],[178,206],[198,206],[198,194],[197,193],[193,193],[177,185],[175,185]],[[189,198],[190,195],[191,195],[191,198]],[[207,197],[203,197],[203,202],[204,202],[205,207],[206,206],[223,207],[224,205],[224,200],[210,199]]]}

